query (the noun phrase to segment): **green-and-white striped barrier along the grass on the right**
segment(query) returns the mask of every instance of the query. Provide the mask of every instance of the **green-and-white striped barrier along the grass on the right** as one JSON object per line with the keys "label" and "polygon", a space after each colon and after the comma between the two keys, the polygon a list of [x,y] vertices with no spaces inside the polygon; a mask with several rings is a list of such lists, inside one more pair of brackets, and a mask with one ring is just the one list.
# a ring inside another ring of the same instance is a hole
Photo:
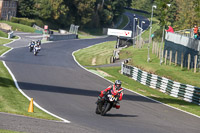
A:
{"label": "green-and-white striped barrier along the grass on the right", "polygon": [[179,97],[187,102],[200,105],[200,88],[188,84],[172,81],[165,77],[150,74],[137,67],[121,64],[121,73],[131,77],[143,85],[147,85],[173,97]]}

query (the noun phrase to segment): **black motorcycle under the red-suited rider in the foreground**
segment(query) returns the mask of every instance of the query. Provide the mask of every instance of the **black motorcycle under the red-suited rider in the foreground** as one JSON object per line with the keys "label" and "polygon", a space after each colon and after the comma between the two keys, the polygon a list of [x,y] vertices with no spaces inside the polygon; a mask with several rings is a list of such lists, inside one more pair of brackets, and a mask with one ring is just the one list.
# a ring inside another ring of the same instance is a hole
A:
{"label": "black motorcycle under the red-suited rider in the foreground", "polygon": [[102,98],[98,98],[96,104],[96,114],[104,116],[112,107],[116,106],[118,96],[109,90]]}

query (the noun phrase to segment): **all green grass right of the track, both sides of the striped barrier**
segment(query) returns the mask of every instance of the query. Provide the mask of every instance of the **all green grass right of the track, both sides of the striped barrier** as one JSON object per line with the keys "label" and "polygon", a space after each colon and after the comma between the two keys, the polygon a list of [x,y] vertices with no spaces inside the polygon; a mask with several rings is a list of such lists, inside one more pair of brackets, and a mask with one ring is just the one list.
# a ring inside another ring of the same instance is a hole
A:
{"label": "all green grass right of the track, both sides of the striped barrier", "polygon": [[[103,61],[103,60],[107,60],[109,58],[108,55],[110,54],[112,55],[112,50],[108,51],[110,53],[109,54],[107,53],[106,55],[102,53],[104,53],[103,52],[104,50],[113,48],[115,43],[116,43],[115,41],[106,42],[106,43],[95,45],[89,48],[81,49],[80,51],[77,51],[75,53],[75,57],[81,65],[85,65],[85,66],[90,66],[92,59],[95,57],[96,57],[96,60],[98,60],[98,58],[101,58],[101,63],[97,63],[97,65],[107,64],[106,61]],[[97,56],[98,54],[100,54],[100,56]],[[187,79],[186,83],[199,84],[198,81],[200,78],[198,78],[198,76],[194,76],[193,72],[187,71],[187,73],[185,73],[186,71],[181,71],[180,68],[174,67],[174,66],[165,66],[165,65],[160,66],[159,60],[158,58],[155,57],[155,55],[151,54],[151,62],[147,63],[146,61],[147,47],[143,49],[136,49],[133,47],[128,47],[126,49],[123,49],[120,52],[120,58],[121,59],[131,58],[132,59],[131,64],[133,64],[134,66],[137,66],[141,68],[142,70],[149,71],[151,73],[156,73],[160,76],[165,76],[167,78],[171,77],[172,80],[175,80],[175,81],[177,81],[178,79],[180,81],[183,81],[182,83],[185,83],[184,81]],[[177,107],[179,109],[182,109],[187,112],[200,116],[200,106],[193,103],[186,102],[179,98],[171,97],[167,94],[160,92],[159,90],[152,89],[152,88],[149,88],[148,86],[142,85],[139,82],[136,82],[133,79],[120,74],[120,67],[105,67],[105,68],[87,67],[87,68],[90,71],[93,71],[93,72],[96,71],[95,73],[98,73],[98,74],[99,74],[99,71],[97,70],[102,70],[111,76],[105,76],[105,74],[100,74],[101,76],[104,76],[105,78],[113,82],[116,79],[122,80],[123,87],[125,88],[128,88],[142,95],[148,96],[152,99],[158,100],[165,104]],[[179,76],[179,74],[182,74],[182,75]],[[190,75],[190,76],[186,76],[186,75]],[[193,81],[195,78],[196,80]]]}

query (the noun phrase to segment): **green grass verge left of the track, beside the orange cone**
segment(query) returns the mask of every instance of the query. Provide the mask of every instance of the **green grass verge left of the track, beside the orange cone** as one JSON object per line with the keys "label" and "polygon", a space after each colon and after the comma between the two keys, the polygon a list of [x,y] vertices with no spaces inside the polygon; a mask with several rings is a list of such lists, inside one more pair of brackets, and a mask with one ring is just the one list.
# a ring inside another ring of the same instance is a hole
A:
{"label": "green grass verge left of the track, beside the orange cone", "polygon": [[[2,46],[11,40],[0,39],[0,55],[7,51],[8,47]],[[35,118],[59,120],[37,107],[34,108],[34,113],[28,113],[30,101],[26,99],[15,87],[12,77],[7,69],[4,67],[3,62],[0,61],[0,112],[19,114]]]}

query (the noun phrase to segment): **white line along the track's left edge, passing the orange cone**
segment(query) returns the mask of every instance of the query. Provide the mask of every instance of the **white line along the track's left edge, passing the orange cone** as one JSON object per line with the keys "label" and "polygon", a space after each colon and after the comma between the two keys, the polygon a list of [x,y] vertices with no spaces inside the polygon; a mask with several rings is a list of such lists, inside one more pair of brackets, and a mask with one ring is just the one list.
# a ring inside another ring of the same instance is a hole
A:
{"label": "white line along the track's left edge, passing the orange cone", "polygon": [[[10,42],[10,43],[11,43],[11,42]],[[7,44],[5,44],[4,46],[6,46],[6,45],[7,45]],[[1,56],[4,56],[4,55],[7,54],[8,52],[10,52],[12,49],[13,49],[13,48],[11,48],[9,51],[5,52],[5,53],[2,54]],[[27,95],[22,91],[22,89],[19,87],[19,85],[18,85],[18,83],[17,83],[17,80],[16,80],[14,74],[12,73],[12,71],[10,70],[10,68],[6,65],[5,61],[3,61],[3,64],[4,64],[4,66],[6,67],[6,69],[8,70],[8,72],[10,73],[10,75],[12,76],[12,79],[13,79],[13,81],[14,81],[14,83],[15,83],[16,88],[30,101],[31,98],[30,98],[29,96],[27,96]],[[44,111],[44,112],[50,114],[51,116],[54,116],[54,117],[56,117],[56,118],[62,120],[64,123],[71,123],[70,121],[68,121],[68,120],[66,120],[66,119],[64,119],[64,118],[59,117],[59,116],[57,116],[57,115],[55,115],[55,114],[53,114],[53,113],[47,111],[46,109],[44,109],[43,107],[41,107],[41,106],[40,106],[39,104],[37,104],[36,102],[34,102],[34,105],[35,105],[36,107],[38,107],[39,109],[41,109],[42,111]]]}

